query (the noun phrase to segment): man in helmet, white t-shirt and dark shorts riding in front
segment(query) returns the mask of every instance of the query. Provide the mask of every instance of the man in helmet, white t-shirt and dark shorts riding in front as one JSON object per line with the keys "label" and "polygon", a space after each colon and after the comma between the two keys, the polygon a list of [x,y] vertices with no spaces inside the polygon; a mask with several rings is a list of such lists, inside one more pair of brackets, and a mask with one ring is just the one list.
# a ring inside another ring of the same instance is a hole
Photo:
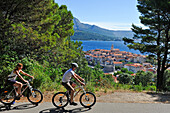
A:
{"label": "man in helmet, white t-shirt and dark shorts riding in front", "polygon": [[[73,77],[77,82],[79,82],[82,85],[85,85],[83,82],[81,82],[80,80],[84,81],[83,78],[81,78],[79,75],[77,75],[74,70],[78,67],[77,63],[72,63],[71,64],[71,69],[67,70],[62,78],[62,85],[68,90],[71,91],[71,100],[70,100],[70,105],[77,105],[77,103],[75,103],[73,101],[73,96],[74,96],[74,87],[76,86],[76,84],[71,80],[71,77]],[[80,80],[79,80],[80,79]]]}

